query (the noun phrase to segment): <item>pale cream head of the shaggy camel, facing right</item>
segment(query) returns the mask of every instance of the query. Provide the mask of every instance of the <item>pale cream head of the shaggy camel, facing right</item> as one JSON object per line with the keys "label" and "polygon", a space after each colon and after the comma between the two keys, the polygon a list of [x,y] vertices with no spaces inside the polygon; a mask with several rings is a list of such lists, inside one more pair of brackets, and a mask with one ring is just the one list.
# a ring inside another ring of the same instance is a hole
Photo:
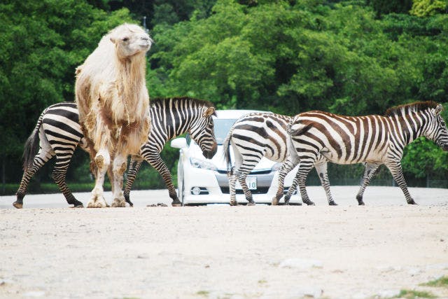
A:
{"label": "pale cream head of the shaggy camel, facing right", "polygon": [[115,44],[119,58],[132,57],[146,53],[153,44],[153,39],[139,25],[123,24],[110,33],[110,40]]}

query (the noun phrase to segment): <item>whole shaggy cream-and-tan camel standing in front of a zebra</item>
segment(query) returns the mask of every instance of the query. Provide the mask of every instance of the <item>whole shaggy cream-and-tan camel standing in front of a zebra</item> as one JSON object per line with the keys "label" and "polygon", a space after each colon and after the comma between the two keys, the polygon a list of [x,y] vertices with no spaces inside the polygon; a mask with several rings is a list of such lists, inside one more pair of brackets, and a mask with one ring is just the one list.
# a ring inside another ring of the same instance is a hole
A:
{"label": "whole shaggy cream-and-tan camel standing in front of a zebra", "polygon": [[96,178],[87,207],[108,207],[103,183],[109,168],[112,207],[125,207],[122,188],[127,155],[139,153],[151,125],[145,79],[145,55],[151,43],[138,25],[120,25],[103,36],[76,69],[79,122]]}

